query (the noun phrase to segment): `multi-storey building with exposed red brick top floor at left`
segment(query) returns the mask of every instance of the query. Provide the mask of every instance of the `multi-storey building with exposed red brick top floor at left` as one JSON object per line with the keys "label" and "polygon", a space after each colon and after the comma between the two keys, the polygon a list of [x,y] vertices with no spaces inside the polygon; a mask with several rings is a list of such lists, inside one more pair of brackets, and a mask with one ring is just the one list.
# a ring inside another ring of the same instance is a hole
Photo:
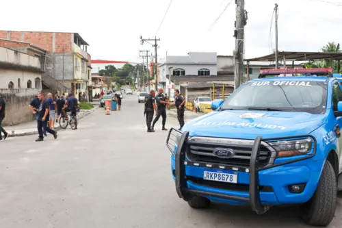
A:
{"label": "multi-storey building with exposed red brick top floor at left", "polygon": [[0,38],[28,42],[47,51],[43,90],[87,92],[90,80],[88,43],[77,33],[0,31]]}

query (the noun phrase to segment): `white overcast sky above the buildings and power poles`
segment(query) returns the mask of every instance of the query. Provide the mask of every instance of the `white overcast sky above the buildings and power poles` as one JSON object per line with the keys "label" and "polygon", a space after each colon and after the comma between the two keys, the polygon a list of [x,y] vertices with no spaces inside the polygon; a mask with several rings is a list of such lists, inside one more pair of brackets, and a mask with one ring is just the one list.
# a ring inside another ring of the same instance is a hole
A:
{"label": "white overcast sky above the buildings and power poles", "polygon": [[[226,12],[214,21],[228,3]],[[1,3],[0,29],[78,32],[90,47],[92,59],[137,60],[140,35],[155,35],[170,0],[79,1],[12,0]],[[328,41],[340,42],[342,0],[245,0],[245,58],[269,54],[274,3],[279,5],[280,51],[319,51]],[[19,7],[20,6],[20,7]],[[157,32],[159,58],[187,55],[190,51],[213,51],[232,55],[235,21],[233,0],[173,0]],[[318,16],[317,16],[318,15]],[[214,23],[214,24],[213,24]]]}

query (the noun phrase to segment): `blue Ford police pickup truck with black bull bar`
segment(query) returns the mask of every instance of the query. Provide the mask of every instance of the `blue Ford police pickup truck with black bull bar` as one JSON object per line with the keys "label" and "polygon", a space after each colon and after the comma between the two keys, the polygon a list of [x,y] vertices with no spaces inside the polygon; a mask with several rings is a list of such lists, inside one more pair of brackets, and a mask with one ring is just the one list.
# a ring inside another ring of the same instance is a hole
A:
{"label": "blue Ford police pickup truck with black bull bar", "polygon": [[304,222],[329,225],[342,186],[342,77],[325,69],[259,75],[214,100],[214,112],[170,129],[179,197],[193,208],[249,204],[257,214],[300,204]]}

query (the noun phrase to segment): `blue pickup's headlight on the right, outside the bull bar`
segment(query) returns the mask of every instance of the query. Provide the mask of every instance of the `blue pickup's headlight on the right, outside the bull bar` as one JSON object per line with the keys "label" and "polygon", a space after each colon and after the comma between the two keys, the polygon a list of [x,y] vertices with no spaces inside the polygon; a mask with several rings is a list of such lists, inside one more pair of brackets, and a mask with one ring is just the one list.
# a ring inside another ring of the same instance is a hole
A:
{"label": "blue pickup's headlight on the right, outside the bull bar", "polygon": [[301,140],[285,140],[276,142],[267,142],[278,153],[277,157],[289,157],[309,153],[313,147],[313,140],[305,138]]}

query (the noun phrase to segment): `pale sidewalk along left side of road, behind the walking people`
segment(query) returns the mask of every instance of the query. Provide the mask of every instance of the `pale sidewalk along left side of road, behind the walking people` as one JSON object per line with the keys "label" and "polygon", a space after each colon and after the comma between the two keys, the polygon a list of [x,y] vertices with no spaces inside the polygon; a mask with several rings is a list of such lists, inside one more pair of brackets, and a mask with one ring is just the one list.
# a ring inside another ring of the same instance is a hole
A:
{"label": "pale sidewalk along left side of road, behind the walking people", "polygon": [[[81,118],[88,116],[97,109],[98,106],[96,105],[92,110],[81,110],[79,114],[77,114],[77,119],[81,120]],[[10,133],[9,137],[31,136],[38,134],[37,121],[29,121],[26,123],[21,123],[19,125],[8,126],[4,128],[6,131],[8,131],[8,133]],[[55,123],[55,129],[57,131],[60,130],[60,123]]]}

